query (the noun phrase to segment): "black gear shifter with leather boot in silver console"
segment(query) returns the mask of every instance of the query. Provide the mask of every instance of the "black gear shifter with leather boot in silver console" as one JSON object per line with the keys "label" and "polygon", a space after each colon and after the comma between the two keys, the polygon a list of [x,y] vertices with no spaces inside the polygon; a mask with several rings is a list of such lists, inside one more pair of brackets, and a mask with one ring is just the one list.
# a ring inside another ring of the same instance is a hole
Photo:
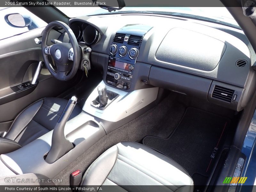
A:
{"label": "black gear shifter with leather boot in silver console", "polygon": [[91,106],[100,110],[104,110],[108,107],[119,94],[108,91],[106,87],[98,87],[99,96],[91,102]]}

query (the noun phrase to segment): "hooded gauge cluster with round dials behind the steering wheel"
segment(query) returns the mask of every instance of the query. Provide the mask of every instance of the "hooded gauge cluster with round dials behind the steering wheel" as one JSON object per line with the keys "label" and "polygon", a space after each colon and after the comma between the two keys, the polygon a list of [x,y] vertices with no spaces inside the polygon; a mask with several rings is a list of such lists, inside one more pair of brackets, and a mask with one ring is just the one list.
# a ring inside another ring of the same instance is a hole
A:
{"label": "hooded gauge cluster with round dials behind the steering wheel", "polygon": [[100,33],[96,28],[82,21],[72,22],[70,28],[74,32],[77,42],[94,45],[98,43],[101,38]]}

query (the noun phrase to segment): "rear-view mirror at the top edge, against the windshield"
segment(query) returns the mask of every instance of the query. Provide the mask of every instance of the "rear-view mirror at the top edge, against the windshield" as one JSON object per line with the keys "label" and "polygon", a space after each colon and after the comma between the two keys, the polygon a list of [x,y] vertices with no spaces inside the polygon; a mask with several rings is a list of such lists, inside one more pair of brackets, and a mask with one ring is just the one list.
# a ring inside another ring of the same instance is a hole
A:
{"label": "rear-view mirror at the top edge, against the windshield", "polygon": [[98,5],[102,9],[106,9],[109,12],[120,10],[125,7],[124,0],[108,0],[107,4],[104,0],[92,0],[92,2]]}

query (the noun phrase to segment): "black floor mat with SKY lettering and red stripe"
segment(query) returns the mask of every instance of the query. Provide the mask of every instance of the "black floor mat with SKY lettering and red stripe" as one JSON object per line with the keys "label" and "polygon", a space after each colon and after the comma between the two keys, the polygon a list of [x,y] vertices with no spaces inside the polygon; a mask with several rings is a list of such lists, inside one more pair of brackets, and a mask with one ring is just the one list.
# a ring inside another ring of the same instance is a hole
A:
{"label": "black floor mat with SKY lettering and red stripe", "polygon": [[[228,124],[228,118],[189,107],[180,124],[167,139],[146,136],[142,142],[171,157],[192,178],[198,174],[208,177]],[[198,182],[195,184],[204,185]]]}

